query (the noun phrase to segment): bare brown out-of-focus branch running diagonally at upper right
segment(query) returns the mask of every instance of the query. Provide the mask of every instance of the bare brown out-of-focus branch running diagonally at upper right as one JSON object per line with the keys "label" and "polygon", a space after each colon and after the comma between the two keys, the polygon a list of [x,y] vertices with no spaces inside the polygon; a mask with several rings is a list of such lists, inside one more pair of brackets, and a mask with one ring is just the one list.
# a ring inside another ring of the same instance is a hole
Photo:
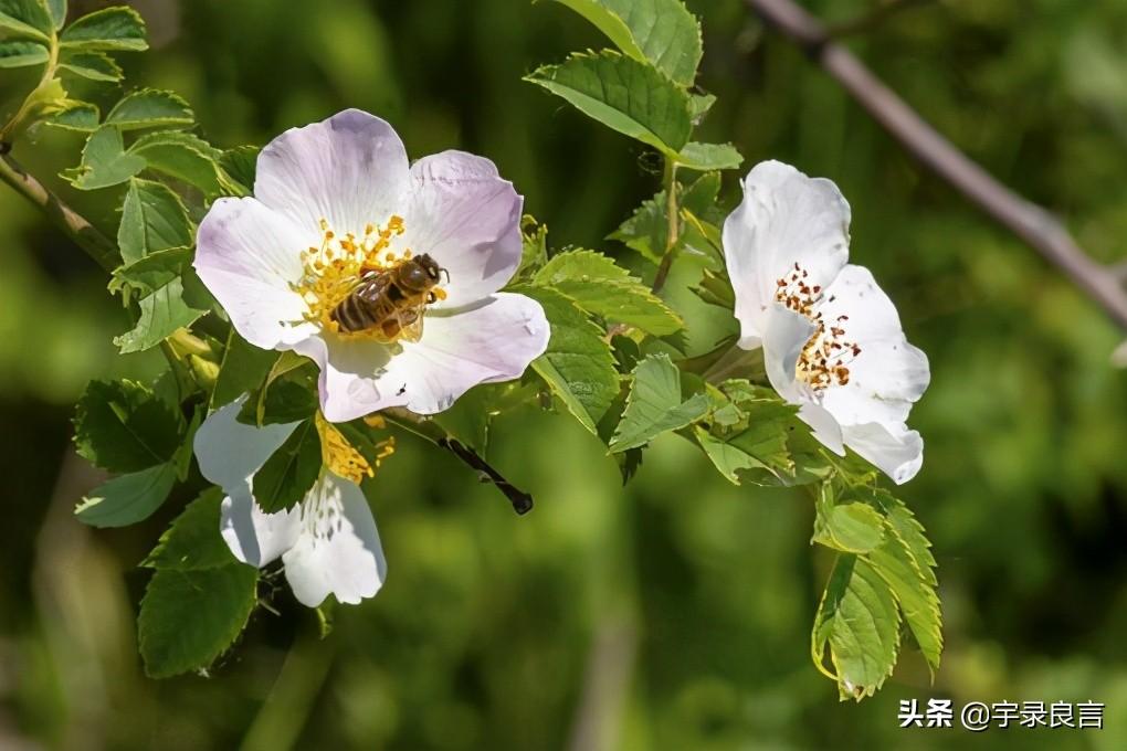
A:
{"label": "bare brown out-of-focus branch running diagonally at upper right", "polygon": [[1109,267],[1081,250],[1056,217],[1003,186],[951,145],[791,0],[744,1],[799,44],[913,157],[1056,265],[1127,329],[1127,290]]}

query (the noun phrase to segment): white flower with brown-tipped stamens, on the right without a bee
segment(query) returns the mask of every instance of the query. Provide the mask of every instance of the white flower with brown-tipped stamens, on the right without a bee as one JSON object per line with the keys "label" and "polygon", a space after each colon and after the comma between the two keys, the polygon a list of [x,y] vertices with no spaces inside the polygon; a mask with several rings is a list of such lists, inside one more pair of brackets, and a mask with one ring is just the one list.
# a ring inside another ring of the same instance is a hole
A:
{"label": "white flower with brown-tipped stamens, on the right without a bee", "polygon": [[846,262],[849,223],[829,180],[773,161],[748,173],[724,224],[739,346],[763,347],[771,385],[826,447],[849,446],[904,483],[923,463],[905,421],[931,373],[888,295]]}

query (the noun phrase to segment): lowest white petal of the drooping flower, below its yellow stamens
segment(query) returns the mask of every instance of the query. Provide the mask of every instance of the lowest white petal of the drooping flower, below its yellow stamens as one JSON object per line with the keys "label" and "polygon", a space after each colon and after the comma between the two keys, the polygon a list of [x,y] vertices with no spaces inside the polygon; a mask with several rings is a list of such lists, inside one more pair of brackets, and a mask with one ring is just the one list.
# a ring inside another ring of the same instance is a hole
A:
{"label": "lowest white petal of the drooping flower, below its yellow stamens", "polygon": [[349,605],[374,597],[388,565],[375,519],[360,488],[326,472],[301,511],[301,535],[282,556],[298,600],[316,608],[329,594]]}

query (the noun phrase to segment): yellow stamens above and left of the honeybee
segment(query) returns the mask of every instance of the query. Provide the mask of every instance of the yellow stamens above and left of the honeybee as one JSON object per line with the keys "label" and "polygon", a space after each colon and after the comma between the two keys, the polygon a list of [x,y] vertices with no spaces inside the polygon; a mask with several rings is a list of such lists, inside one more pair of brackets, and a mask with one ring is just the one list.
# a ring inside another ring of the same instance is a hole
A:
{"label": "yellow stamens above and left of the honeybee", "polygon": [[321,247],[310,245],[301,252],[304,272],[293,285],[309,306],[305,320],[339,332],[332,311],[355,290],[361,277],[367,271],[394,268],[410,259],[410,249],[402,254],[389,250],[394,238],[403,231],[402,217],[392,216],[387,226],[366,225],[361,238],[352,232],[340,236],[322,218]]}

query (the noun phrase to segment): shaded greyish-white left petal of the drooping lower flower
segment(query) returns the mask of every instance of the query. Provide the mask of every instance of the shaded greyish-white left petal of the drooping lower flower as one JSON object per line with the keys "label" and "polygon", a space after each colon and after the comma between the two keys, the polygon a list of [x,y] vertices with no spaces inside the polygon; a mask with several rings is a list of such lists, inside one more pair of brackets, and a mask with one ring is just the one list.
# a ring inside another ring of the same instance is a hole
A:
{"label": "shaded greyish-white left petal of the drooping lower flower", "polygon": [[199,473],[230,495],[250,492],[250,479],[299,424],[243,424],[237,418],[246,401],[242,395],[212,412],[193,441]]}

